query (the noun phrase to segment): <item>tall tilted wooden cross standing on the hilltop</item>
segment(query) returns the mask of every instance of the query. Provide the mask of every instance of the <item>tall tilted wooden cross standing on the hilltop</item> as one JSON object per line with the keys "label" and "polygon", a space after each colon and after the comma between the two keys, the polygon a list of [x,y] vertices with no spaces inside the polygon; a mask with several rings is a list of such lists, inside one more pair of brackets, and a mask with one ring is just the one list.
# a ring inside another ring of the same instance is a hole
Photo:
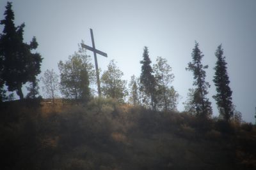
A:
{"label": "tall tilted wooden cross standing on the hilltop", "polygon": [[104,53],[104,52],[101,52],[100,50],[97,50],[97,49],[95,48],[92,29],[90,29],[90,32],[91,32],[91,38],[92,38],[92,47],[91,47],[91,46],[88,46],[88,45],[84,45],[83,43],[81,43],[81,46],[82,46],[82,48],[86,48],[87,50],[90,50],[90,51],[93,52],[94,61],[95,61],[96,76],[97,76],[98,93],[99,93],[99,97],[100,97],[100,96],[101,96],[101,91],[100,91],[100,76],[99,76],[99,68],[98,68],[98,61],[97,61],[97,55],[96,55],[96,53],[99,53],[100,55],[103,55],[104,57],[108,57],[108,54],[107,54],[107,53]]}

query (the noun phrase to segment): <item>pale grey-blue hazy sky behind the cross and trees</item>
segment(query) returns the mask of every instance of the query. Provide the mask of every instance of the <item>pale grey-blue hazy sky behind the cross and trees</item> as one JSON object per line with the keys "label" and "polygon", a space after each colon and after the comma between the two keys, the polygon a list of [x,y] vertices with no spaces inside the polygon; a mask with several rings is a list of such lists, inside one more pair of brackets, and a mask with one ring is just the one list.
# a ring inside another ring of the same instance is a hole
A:
{"label": "pale grey-blue hazy sky behind the cross and trees", "polygon": [[[0,1],[0,20],[4,18],[5,0]],[[143,46],[148,46],[152,64],[156,57],[168,60],[175,75],[172,85],[180,94],[178,110],[183,111],[188,89],[193,87],[193,75],[186,71],[191,52],[198,41],[208,65],[207,81],[211,84],[208,97],[213,115],[218,110],[212,96],[216,94],[212,78],[218,45],[222,44],[227,61],[233,103],[243,120],[255,122],[256,107],[256,1],[253,0],[13,0],[15,24],[26,24],[24,41],[36,36],[37,52],[44,58],[42,73],[67,60],[84,40],[108,53],[97,56],[102,71],[110,60],[124,72],[140,76]],[[0,27],[3,30],[3,26]],[[88,55],[93,53],[87,51]],[[38,76],[42,76],[42,73]]]}

